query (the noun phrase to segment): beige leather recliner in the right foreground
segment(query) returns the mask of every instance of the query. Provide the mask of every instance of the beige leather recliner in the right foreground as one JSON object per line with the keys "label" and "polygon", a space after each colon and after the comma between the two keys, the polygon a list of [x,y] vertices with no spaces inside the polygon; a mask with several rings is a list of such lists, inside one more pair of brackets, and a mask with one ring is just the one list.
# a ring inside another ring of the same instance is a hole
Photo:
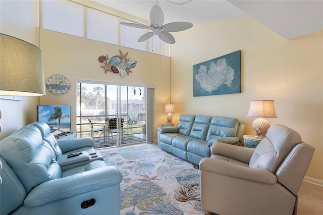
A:
{"label": "beige leather recliner in the right foreground", "polygon": [[201,206],[213,213],[287,215],[297,212],[297,192],[314,147],[283,125],[273,125],[256,148],[214,143],[203,158]]}

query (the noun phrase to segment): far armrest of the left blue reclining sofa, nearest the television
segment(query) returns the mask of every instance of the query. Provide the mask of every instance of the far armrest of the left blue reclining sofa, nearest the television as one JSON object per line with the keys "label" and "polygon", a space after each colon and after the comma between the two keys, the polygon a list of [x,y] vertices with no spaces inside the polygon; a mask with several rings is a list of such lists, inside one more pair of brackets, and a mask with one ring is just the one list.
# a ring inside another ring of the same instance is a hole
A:
{"label": "far armrest of the left blue reclining sofa, nearest the television", "polygon": [[59,140],[57,142],[58,142],[63,153],[65,153],[67,151],[72,151],[75,149],[83,148],[83,147],[93,147],[93,145],[94,145],[93,139],[90,137]]}

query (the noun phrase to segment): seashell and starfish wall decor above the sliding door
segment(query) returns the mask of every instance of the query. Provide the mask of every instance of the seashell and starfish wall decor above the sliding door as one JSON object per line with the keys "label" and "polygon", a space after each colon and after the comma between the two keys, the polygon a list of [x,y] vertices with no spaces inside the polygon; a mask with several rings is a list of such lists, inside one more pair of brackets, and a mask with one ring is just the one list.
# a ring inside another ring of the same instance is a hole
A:
{"label": "seashell and starfish wall decor above the sliding door", "polygon": [[100,56],[98,58],[98,61],[100,63],[103,63],[104,66],[100,66],[104,68],[104,72],[107,71],[113,72],[113,73],[119,73],[121,77],[125,77],[126,74],[129,75],[132,71],[130,69],[136,67],[137,61],[133,58],[127,59],[127,53],[123,53],[119,49],[120,55],[114,56],[111,59],[109,59],[109,56]]}

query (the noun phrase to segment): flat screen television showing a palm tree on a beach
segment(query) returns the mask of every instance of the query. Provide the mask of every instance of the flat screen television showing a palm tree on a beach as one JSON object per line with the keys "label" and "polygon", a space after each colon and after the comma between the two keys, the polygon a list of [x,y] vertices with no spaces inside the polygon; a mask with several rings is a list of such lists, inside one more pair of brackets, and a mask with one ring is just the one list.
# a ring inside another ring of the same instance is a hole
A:
{"label": "flat screen television showing a palm tree on a beach", "polygon": [[71,133],[71,105],[38,105],[38,122],[46,123],[55,137]]}

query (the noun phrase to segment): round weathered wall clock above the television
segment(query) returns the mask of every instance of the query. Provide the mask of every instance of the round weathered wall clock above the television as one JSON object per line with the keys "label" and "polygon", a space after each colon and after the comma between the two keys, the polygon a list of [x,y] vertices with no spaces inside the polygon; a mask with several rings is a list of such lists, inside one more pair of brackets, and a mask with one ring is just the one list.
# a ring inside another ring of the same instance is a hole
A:
{"label": "round weathered wall clock above the television", "polygon": [[52,75],[46,81],[47,90],[56,95],[63,95],[71,89],[71,82],[64,75]]}

